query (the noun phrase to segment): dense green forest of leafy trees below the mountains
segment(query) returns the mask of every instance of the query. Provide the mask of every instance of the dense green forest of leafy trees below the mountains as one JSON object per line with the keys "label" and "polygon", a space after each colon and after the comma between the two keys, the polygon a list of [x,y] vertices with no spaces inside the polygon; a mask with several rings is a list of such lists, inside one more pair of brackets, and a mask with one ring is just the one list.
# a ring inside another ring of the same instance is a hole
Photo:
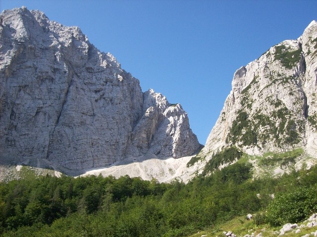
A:
{"label": "dense green forest of leafy trees below the mountains", "polygon": [[[272,198],[271,194],[275,195]],[[282,225],[317,210],[317,167],[252,179],[235,163],[190,183],[128,176],[39,177],[0,183],[3,237],[181,237],[236,216]]]}

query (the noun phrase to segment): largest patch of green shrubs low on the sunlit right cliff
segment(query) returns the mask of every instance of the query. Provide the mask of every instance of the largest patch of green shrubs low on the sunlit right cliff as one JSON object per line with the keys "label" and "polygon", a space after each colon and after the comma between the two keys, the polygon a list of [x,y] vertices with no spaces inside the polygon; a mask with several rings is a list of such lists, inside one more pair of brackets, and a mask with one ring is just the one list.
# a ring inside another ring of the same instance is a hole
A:
{"label": "largest patch of green shrubs low on the sunlit right cliff", "polygon": [[[237,111],[237,117],[232,122],[226,142],[232,145],[260,145],[263,146],[269,140],[277,146],[283,144],[295,145],[300,142],[300,135],[304,128],[303,120],[293,120],[292,112],[288,110],[281,100],[274,103],[276,110],[270,116],[257,113],[249,116],[247,109]],[[313,116],[309,117],[311,124],[314,123]]]}

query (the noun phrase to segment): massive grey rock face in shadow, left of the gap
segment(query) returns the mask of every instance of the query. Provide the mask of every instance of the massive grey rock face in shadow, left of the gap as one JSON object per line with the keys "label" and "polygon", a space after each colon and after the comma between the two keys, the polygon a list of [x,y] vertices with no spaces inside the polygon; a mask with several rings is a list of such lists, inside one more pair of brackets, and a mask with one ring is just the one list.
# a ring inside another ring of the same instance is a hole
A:
{"label": "massive grey rock face in shadow, left of the gap", "polygon": [[193,154],[200,144],[180,104],[100,52],[78,27],[25,7],[0,15],[0,161],[45,159],[90,169],[151,152]]}

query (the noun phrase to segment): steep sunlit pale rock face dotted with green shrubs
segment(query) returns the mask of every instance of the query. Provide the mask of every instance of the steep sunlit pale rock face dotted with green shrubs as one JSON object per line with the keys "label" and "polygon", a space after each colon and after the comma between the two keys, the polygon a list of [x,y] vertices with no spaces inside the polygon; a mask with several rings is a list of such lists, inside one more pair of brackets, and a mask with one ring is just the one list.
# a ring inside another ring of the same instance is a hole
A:
{"label": "steep sunlit pale rock face dotted with green shrubs", "polygon": [[317,22],[238,69],[202,153],[237,146],[251,155],[317,151]]}

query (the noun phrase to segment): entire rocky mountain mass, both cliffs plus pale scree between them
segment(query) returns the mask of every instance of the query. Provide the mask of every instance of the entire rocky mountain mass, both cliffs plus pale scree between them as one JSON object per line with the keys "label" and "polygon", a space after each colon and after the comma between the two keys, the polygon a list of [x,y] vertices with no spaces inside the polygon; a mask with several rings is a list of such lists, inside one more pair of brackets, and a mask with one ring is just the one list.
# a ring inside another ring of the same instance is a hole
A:
{"label": "entire rocky mountain mass, both cliffs plus pale scree between them", "polygon": [[234,73],[193,157],[201,145],[181,105],[152,89],[142,93],[78,27],[25,7],[5,10],[0,54],[0,179],[21,165],[187,182],[240,159],[255,176],[317,163],[316,21]]}

